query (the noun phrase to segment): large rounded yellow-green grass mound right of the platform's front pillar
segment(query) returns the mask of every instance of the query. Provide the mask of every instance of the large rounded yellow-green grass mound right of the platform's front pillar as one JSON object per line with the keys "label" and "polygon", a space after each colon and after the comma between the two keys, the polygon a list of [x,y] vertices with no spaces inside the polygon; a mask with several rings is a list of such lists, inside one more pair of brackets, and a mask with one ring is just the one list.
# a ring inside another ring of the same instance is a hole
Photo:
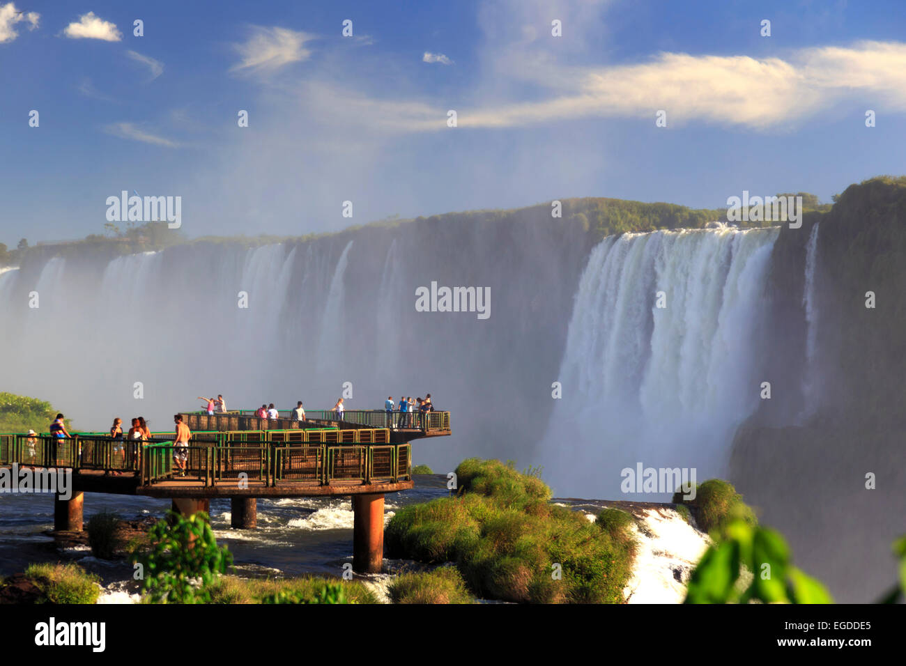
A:
{"label": "large rounded yellow-green grass mound right of the platform's front pillar", "polygon": [[464,460],[458,496],[401,508],[384,543],[390,557],[455,563],[477,596],[516,603],[622,603],[635,542],[548,504],[536,470]]}

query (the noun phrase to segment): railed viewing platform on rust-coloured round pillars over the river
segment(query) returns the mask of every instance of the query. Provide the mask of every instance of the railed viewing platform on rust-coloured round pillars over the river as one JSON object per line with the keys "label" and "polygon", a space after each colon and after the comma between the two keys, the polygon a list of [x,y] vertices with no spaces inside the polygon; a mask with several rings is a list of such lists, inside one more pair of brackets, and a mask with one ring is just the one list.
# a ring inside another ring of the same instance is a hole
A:
{"label": "railed viewing platform on rust-coloured round pillars over the river", "polygon": [[[449,412],[306,411],[259,419],[254,411],[183,412],[188,447],[174,433],[148,441],[104,433],[0,434],[0,467],[72,472],[72,497],[57,493],[54,526],[82,529],[83,493],[141,495],[173,500],[183,515],[209,511],[212,498],[230,498],[232,524],[254,528],[257,497],[351,496],[355,513],[352,566],[380,572],[384,494],[413,487],[411,439],[450,434]],[[175,455],[176,454],[176,455]],[[185,455],[185,474],[176,458]]]}

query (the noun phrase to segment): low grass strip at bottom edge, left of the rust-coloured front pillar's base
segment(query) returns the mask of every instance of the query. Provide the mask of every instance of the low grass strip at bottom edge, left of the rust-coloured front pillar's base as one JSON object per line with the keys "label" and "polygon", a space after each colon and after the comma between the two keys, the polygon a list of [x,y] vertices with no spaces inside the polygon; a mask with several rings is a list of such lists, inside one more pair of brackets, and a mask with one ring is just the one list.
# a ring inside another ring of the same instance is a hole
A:
{"label": "low grass strip at bottom edge, left of the rust-coloured front pillar's base", "polygon": [[315,576],[274,579],[222,575],[207,590],[210,603],[379,603],[359,581]]}

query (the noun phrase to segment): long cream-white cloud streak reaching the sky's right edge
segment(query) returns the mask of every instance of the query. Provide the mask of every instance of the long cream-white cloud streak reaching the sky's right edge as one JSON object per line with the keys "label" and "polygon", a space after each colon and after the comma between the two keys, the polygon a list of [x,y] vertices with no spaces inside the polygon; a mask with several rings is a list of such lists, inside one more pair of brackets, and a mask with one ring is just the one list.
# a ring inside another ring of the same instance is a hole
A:
{"label": "long cream-white cloud streak reaching the sky's right edge", "polygon": [[462,111],[461,127],[516,127],[593,116],[713,121],[766,129],[812,116],[857,94],[906,109],[906,43],[809,48],[789,60],[662,53],[651,63],[563,72],[574,82],[543,101]]}

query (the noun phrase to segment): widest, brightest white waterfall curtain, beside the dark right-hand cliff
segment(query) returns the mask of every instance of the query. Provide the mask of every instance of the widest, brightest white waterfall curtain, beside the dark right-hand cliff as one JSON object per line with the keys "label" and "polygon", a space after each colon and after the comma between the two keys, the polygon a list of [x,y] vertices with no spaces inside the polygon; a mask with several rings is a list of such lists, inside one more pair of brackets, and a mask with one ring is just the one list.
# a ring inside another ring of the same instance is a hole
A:
{"label": "widest, brightest white waterfall curtain, beside the dark right-hand cliff", "polygon": [[699,482],[724,471],[759,400],[751,350],[777,235],[659,231],[593,250],[538,456],[554,490],[614,497],[638,463],[696,468]]}

